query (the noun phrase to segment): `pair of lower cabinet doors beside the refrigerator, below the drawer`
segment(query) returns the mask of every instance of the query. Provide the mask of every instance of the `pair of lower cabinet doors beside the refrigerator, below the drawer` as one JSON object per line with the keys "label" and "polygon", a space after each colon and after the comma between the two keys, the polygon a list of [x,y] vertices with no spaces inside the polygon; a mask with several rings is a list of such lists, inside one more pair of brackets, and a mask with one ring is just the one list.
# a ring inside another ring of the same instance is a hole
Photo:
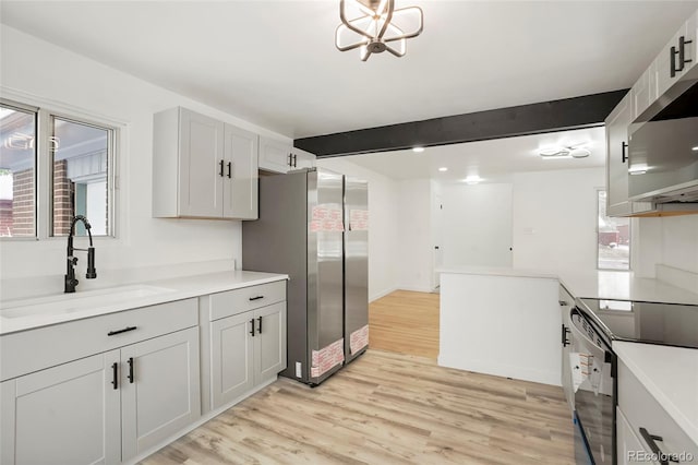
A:
{"label": "pair of lower cabinet doors beside the refrigerator, below the drawer", "polygon": [[210,322],[212,408],[219,408],[286,368],[286,301]]}

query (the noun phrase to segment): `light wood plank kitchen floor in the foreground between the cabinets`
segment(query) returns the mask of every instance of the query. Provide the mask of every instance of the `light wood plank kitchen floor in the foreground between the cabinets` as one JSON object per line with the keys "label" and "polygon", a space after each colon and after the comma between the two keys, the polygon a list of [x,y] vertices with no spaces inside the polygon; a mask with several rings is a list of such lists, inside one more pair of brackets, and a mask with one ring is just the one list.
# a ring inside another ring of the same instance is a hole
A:
{"label": "light wood plank kitchen floor in the foreground between the cabinets", "polygon": [[288,379],[148,457],[186,464],[574,464],[562,390],[369,349],[315,389]]}

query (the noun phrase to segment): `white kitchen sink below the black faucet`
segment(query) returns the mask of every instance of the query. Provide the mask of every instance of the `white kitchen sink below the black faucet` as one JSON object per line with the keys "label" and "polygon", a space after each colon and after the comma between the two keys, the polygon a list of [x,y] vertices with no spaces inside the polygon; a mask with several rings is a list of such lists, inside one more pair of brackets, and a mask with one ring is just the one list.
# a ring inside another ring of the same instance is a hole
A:
{"label": "white kitchen sink below the black faucet", "polygon": [[167,294],[173,290],[167,287],[132,285],[32,299],[8,300],[0,302],[0,317],[12,319],[39,314],[71,313]]}

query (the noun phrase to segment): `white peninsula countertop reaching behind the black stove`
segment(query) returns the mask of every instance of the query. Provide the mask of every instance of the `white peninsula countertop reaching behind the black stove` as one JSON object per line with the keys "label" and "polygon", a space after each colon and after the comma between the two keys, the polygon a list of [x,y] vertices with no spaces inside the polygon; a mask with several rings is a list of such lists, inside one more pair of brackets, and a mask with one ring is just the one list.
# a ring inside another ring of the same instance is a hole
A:
{"label": "white peninsula countertop reaching behind the black stove", "polygon": [[597,271],[579,273],[568,271],[552,273],[539,270],[493,266],[452,266],[436,271],[452,274],[559,279],[563,286],[577,298],[698,305],[698,294],[658,279],[635,277],[633,272]]}

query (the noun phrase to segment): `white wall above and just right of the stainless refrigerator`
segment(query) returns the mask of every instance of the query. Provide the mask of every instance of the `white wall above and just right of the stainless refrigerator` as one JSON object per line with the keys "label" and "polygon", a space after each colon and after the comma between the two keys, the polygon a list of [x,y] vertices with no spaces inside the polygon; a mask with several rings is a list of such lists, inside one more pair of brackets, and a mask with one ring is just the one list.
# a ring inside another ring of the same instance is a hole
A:
{"label": "white wall above and just right of the stainless refrigerator", "polygon": [[397,288],[399,186],[342,158],[324,158],[317,166],[369,181],[369,300]]}

